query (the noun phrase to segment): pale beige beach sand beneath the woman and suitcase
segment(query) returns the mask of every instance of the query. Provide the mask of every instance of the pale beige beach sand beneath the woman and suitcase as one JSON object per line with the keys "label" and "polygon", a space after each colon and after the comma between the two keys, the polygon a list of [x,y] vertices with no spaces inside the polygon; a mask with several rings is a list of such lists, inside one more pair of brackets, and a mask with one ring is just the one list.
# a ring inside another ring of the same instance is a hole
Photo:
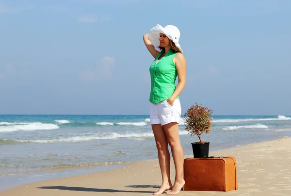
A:
{"label": "pale beige beach sand beneath the woman and suitcase", "polygon": [[[180,196],[291,196],[291,138],[210,152],[237,159],[239,189],[230,192],[181,191]],[[185,158],[193,157],[186,156]],[[175,169],[171,160],[171,179]],[[162,183],[158,161],[22,185],[0,196],[149,196]],[[163,193],[162,195],[166,195]]]}

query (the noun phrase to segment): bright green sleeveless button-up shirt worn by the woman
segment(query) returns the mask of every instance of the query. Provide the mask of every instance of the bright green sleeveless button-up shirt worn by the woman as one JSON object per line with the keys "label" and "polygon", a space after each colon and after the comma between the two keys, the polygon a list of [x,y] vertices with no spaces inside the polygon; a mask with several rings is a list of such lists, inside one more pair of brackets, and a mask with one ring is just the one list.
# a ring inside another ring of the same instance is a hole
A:
{"label": "bright green sleeveless button-up shirt worn by the woman", "polygon": [[163,54],[163,52],[161,52],[149,67],[151,81],[149,101],[151,103],[161,102],[170,98],[174,93],[176,89],[175,81],[178,73],[173,59],[177,53],[178,52],[169,50],[157,63],[157,60]]}

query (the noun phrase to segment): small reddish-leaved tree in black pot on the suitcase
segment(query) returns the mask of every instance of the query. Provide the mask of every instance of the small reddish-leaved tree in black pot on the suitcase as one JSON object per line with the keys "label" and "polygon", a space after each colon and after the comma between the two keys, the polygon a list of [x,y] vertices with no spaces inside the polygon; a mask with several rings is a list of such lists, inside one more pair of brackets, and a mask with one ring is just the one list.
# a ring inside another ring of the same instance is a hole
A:
{"label": "small reddish-leaved tree in black pot on the suitcase", "polygon": [[184,114],[183,119],[185,122],[185,130],[190,133],[190,136],[197,135],[199,142],[193,142],[192,149],[194,158],[207,158],[209,155],[210,142],[203,142],[201,134],[209,134],[212,126],[213,111],[207,107],[203,107],[202,104],[195,103]]}

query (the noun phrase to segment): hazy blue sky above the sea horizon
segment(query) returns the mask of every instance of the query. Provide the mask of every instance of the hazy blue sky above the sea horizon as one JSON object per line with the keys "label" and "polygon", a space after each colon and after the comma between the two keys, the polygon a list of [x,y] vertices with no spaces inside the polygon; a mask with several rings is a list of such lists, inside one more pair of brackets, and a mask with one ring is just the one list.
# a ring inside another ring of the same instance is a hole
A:
{"label": "hazy blue sky above the sea horizon", "polygon": [[0,114],[148,114],[143,34],[176,25],[182,113],[291,115],[290,0],[0,0]]}

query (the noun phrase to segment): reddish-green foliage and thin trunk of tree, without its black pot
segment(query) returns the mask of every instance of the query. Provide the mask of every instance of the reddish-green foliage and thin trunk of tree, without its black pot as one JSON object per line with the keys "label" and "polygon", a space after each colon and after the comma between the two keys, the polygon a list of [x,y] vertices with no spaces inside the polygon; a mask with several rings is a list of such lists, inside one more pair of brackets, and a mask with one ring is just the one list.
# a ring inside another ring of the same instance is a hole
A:
{"label": "reddish-green foliage and thin trunk of tree, without its black pot", "polygon": [[203,107],[202,104],[195,103],[184,114],[185,130],[188,131],[191,136],[197,135],[200,143],[202,142],[201,134],[209,134],[212,126],[213,111],[207,107]]}

